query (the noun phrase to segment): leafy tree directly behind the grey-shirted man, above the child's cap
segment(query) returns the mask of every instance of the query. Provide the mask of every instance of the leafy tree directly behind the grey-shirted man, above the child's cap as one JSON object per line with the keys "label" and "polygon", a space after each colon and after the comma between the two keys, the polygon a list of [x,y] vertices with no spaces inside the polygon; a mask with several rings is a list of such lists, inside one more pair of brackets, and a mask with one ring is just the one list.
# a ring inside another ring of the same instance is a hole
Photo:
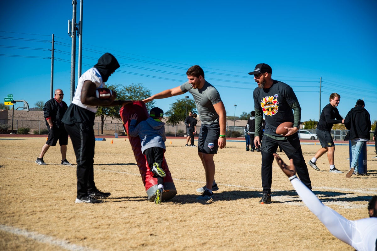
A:
{"label": "leafy tree directly behind the grey-shirted man, above the child's cap", "polygon": [[[187,102],[187,113],[186,113],[186,102]],[[194,99],[188,98],[178,98],[176,101],[170,105],[170,109],[165,112],[168,118],[167,124],[176,125],[181,121],[185,121],[189,111],[197,113],[196,104]]]}

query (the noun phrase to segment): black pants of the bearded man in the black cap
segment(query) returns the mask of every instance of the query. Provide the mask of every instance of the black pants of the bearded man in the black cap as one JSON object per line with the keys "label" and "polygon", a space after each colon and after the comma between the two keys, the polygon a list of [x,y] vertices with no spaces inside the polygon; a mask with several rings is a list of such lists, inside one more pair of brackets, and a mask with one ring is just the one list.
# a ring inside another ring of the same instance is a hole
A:
{"label": "black pants of the bearded man in the black cap", "polygon": [[289,159],[293,159],[296,167],[296,173],[303,184],[311,190],[311,181],[308,167],[302,156],[301,144],[298,134],[294,134],[286,140],[276,140],[267,135],[263,136],[261,145],[262,152],[262,187],[263,193],[271,194],[272,184],[272,162],[274,161],[273,153],[276,153],[277,147],[280,146]]}

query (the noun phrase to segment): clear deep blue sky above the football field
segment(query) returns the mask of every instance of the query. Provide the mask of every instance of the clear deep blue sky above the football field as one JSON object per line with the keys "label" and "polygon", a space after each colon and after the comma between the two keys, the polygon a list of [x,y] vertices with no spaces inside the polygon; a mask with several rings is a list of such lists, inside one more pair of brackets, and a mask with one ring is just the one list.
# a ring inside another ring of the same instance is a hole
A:
{"label": "clear deep blue sky above the football field", "polygon": [[[236,104],[239,116],[254,106],[257,85],[247,73],[257,63],[267,63],[273,78],[296,92],[301,121],[319,117],[320,77],[321,108],[337,92],[343,117],[360,98],[371,120],[377,119],[375,0],[86,0],[83,9],[82,72],[110,52],[121,64],[109,78],[110,84],[141,83],[155,94],[184,83],[186,70],[198,64],[205,79],[219,90],[227,115],[234,115]],[[77,0],[77,20],[79,10]],[[2,102],[13,94],[14,99],[35,107],[37,101],[50,98],[49,57],[51,35],[55,34],[54,89],[63,89],[64,101],[69,103],[67,21],[71,18],[71,0],[2,3]],[[183,97],[157,99],[156,105],[166,111]],[[15,108],[18,106],[22,103]]]}

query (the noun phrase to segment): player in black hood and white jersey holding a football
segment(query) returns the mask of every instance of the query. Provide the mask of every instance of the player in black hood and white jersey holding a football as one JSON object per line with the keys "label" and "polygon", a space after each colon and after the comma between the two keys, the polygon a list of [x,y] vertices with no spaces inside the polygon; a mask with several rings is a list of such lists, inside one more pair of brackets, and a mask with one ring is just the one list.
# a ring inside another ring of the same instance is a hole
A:
{"label": "player in black hood and white jersey holding a football", "polygon": [[98,198],[106,198],[110,193],[97,189],[94,183],[94,118],[97,106],[124,106],[132,101],[95,97],[95,91],[103,88],[110,75],[118,69],[119,63],[110,53],[103,54],[98,63],[84,72],[78,80],[72,103],[63,116],[62,122],[70,135],[77,161],[77,199],[75,203],[101,203]]}

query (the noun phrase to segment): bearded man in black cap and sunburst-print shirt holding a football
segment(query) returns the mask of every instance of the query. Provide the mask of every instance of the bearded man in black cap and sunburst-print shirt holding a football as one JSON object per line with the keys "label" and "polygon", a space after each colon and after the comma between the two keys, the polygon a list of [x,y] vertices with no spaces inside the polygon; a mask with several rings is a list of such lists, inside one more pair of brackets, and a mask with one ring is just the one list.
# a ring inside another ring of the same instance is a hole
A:
{"label": "bearded man in black cap and sunburst-print shirt holding a football", "polygon": [[[268,64],[257,64],[253,72],[258,87],[254,90],[255,138],[254,144],[260,146],[262,153],[261,204],[271,202],[272,162],[277,147],[284,150],[289,159],[296,163],[300,180],[311,189],[308,167],[302,156],[300,139],[297,131],[300,127],[301,107],[293,89],[285,83],[271,78],[272,69]],[[262,118],[265,118],[265,130],[261,145]],[[276,133],[276,128],[283,122],[293,122],[293,127],[285,135]]]}

